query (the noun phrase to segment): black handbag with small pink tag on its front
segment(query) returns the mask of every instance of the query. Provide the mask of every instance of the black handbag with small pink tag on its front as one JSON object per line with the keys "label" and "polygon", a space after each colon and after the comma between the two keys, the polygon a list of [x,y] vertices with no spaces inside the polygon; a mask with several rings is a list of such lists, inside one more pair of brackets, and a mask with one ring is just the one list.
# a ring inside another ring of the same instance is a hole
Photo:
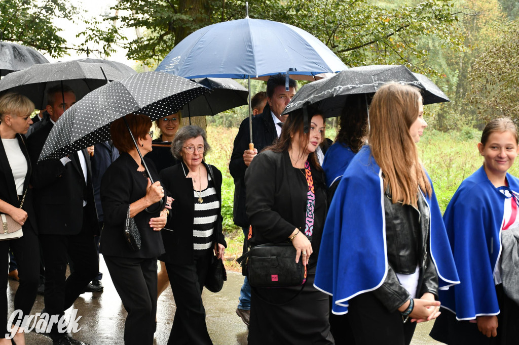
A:
{"label": "black handbag with small pink tag on its front", "polygon": [[253,287],[299,286],[306,281],[306,266],[302,257],[295,262],[292,243],[265,243],[252,247],[248,254],[247,277]]}

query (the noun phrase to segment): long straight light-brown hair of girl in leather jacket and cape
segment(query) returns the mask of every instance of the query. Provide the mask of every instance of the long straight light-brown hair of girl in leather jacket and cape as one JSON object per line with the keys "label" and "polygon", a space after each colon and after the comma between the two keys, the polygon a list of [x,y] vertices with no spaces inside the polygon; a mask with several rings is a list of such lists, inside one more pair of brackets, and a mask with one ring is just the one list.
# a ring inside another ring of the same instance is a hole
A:
{"label": "long straight light-brown hair of girl in leather jacket and cape", "polygon": [[393,203],[416,206],[418,188],[429,197],[432,195],[416,143],[409,133],[409,127],[418,118],[420,99],[418,89],[390,83],[377,90],[371,103],[368,142]]}

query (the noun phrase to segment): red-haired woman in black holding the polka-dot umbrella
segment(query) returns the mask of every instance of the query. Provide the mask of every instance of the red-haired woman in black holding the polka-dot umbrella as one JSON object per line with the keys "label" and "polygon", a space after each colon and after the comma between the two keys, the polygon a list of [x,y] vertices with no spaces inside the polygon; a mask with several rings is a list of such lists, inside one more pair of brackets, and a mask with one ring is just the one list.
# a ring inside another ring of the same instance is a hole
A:
{"label": "red-haired woman in black holding the polka-dot umbrella", "polygon": [[[152,150],[153,132],[148,132],[152,122],[140,114],[128,114],[125,118],[144,156]],[[101,181],[104,227],[100,251],[128,311],[125,344],[151,345],[157,311],[157,256],[164,253],[160,229],[166,225],[169,211],[145,211],[157,209],[165,191],[155,166],[146,160],[155,183],[150,182],[122,118],[112,123],[110,133],[120,155]],[[127,217],[133,218],[141,235],[141,248],[137,251],[129,248],[124,236]]]}

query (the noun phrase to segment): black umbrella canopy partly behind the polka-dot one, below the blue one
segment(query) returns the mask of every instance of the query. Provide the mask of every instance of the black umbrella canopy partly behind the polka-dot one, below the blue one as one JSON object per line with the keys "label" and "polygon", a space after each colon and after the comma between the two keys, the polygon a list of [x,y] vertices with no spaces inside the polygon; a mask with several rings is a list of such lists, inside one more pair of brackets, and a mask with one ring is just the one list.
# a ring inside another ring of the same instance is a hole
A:
{"label": "black umbrella canopy partly behind the polka-dot one, below the blue one", "polygon": [[192,81],[209,88],[211,91],[193,99],[184,106],[184,116],[215,115],[242,105],[247,105],[249,91],[229,78],[198,78]]}

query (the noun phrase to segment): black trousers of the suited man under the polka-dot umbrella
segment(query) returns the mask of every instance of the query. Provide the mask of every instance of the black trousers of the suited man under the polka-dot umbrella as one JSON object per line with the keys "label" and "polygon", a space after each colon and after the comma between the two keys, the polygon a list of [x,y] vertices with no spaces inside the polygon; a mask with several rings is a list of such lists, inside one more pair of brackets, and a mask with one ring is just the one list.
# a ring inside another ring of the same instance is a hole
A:
{"label": "black trousers of the suited man under the polka-dot umbrella", "polygon": [[[39,235],[45,260],[45,311],[63,317],[87,284],[97,276],[99,264],[92,231],[83,221],[77,235]],[[16,255],[16,253],[15,253]],[[67,255],[75,270],[66,278]],[[18,257],[17,257],[18,259]],[[39,263],[38,263],[39,265]],[[57,325],[50,330],[52,340],[63,337]]]}

